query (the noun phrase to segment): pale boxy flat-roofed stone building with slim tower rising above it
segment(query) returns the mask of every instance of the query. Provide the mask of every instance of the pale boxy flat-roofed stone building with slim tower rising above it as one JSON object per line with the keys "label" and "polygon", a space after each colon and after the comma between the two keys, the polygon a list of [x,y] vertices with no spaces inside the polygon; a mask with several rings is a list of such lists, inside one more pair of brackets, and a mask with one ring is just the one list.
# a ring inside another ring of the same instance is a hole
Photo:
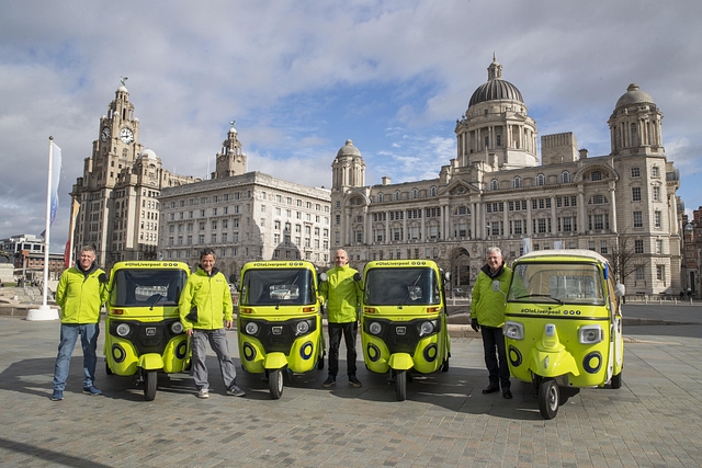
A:
{"label": "pale boxy flat-roofed stone building with slim tower rising above it", "polygon": [[329,190],[246,172],[234,123],[216,160],[211,180],[162,190],[160,258],[195,266],[200,251],[212,248],[227,276],[253,260],[302,259],[328,266]]}

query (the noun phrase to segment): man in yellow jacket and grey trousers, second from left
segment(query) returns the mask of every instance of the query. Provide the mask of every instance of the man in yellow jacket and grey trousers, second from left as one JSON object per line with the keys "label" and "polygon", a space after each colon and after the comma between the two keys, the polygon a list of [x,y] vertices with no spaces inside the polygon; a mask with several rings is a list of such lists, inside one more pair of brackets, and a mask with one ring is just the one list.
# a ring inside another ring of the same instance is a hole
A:
{"label": "man in yellow jacket and grey trousers, second from left", "polygon": [[236,386],[237,372],[229,355],[226,330],[231,329],[234,318],[231,293],[227,278],[215,267],[215,252],[204,249],[200,254],[200,266],[190,275],[178,304],[180,321],[190,338],[192,374],[197,386],[197,397],[210,397],[205,343],[210,341],[212,351],[219,361],[222,380],[227,395],[244,397],[246,393]]}

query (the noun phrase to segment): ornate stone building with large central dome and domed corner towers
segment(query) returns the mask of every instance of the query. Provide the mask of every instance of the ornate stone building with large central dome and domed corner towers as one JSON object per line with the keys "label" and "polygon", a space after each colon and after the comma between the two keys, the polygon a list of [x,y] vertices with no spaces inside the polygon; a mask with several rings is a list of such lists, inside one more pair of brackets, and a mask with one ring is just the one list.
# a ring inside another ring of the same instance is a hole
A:
{"label": "ornate stone building with large central dome and domed corner towers", "polygon": [[541,139],[495,59],[456,121],[456,157],[432,180],[365,184],[352,141],[332,163],[331,248],[354,266],[434,259],[453,286],[473,284],[486,249],[508,262],[529,250],[590,249],[610,258],[627,294],[681,287],[679,174],[666,157],[663,113],[631,84],[608,124],[611,152],[591,157],[571,133]]}

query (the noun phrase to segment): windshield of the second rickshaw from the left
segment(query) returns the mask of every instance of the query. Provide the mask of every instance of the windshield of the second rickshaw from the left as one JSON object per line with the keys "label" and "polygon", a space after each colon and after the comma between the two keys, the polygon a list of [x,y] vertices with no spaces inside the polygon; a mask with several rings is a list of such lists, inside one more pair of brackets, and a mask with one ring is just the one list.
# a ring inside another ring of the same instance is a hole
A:
{"label": "windshield of the second rickshaw from the left", "polygon": [[312,305],[317,300],[314,272],[307,269],[247,270],[241,278],[242,306]]}

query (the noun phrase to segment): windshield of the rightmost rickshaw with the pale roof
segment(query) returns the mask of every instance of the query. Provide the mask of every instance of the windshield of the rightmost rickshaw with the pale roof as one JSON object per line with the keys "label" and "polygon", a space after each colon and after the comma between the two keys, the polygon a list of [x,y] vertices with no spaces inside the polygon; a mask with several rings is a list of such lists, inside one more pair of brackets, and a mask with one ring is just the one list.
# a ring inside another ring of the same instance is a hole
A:
{"label": "windshield of the rightmost rickshaw with the pale roof", "polygon": [[600,269],[591,263],[517,264],[508,301],[604,305]]}

